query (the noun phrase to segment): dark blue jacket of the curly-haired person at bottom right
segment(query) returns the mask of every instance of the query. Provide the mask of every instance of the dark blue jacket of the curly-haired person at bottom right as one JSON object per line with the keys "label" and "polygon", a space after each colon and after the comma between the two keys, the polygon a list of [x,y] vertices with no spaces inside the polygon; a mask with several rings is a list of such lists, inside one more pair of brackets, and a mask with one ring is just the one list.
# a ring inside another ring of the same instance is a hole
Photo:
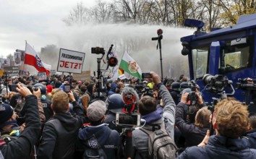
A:
{"label": "dark blue jacket of the curly-haired person at bottom right", "polygon": [[203,158],[203,159],[251,159],[256,158],[256,150],[249,149],[243,139],[231,139],[221,135],[211,136],[205,147],[188,147],[179,159]]}

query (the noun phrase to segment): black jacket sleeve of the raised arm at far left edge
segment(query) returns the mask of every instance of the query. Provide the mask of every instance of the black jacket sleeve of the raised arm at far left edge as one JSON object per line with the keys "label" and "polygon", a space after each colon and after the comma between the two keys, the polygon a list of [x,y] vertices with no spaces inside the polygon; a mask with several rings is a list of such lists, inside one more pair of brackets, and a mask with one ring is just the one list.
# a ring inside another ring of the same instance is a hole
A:
{"label": "black jacket sleeve of the raised arm at far left edge", "polygon": [[33,145],[40,135],[38,100],[35,95],[27,95],[23,109],[25,109],[26,127],[18,139],[0,147],[5,159],[30,158]]}

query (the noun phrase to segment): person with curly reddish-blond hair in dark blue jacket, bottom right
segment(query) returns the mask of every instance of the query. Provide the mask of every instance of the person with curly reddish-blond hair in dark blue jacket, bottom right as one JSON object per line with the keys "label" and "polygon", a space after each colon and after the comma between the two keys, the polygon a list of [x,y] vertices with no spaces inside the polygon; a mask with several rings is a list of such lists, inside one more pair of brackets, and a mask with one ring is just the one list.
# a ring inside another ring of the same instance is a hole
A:
{"label": "person with curly reddish-blond hair in dark blue jacket, bottom right", "polygon": [[[256,150],[249,149],[240,137],[248,129],[247,106],[234,98],[226,98],[217,103],[213,113],[213,128],[216,135],[201,147],[187,148],[179,158],[256,158]],[[203,146],[203,147],[202,147]]]}

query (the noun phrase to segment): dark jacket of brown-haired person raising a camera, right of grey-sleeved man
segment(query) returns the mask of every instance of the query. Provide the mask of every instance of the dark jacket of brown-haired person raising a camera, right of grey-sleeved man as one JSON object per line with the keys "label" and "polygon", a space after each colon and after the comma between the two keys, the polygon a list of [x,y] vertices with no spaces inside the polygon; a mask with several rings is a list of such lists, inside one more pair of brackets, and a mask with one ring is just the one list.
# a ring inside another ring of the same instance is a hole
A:
{"label": "dark jacket of brown-haired person raising a camera, right of grey-sleeved man", "polygon": [[194,124],[187,124],[184,120],[184,106],[186,104],[180,102],[176,106],[176,121],[175,124],[182,132],[186,139],[186,147],[195,146],[202,142],[202,139],[205,137],[207,129],[209,128],[200,128]]}

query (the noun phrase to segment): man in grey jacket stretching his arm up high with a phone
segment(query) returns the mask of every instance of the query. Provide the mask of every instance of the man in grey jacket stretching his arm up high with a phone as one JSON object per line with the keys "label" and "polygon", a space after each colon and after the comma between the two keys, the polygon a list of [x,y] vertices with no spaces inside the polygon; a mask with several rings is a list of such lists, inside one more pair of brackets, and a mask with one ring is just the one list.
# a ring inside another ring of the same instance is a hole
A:
{"label": "man in grey jacket stretching his arm up high with a phone", "polygon": [[[167,88],[161,82],[161,78],[155,72],[150,72],[153,82],[159,89],[160,97],[163,100],[163,106],[157,104],[155,98],[148,95],[144,96],[138,102],[139,113],[142,119],[146,121],[143,129],[154,132],[155,127],[166,129],[166,132],[174,139],[174,122],[175,122],[175,103],[171,98]],[[161,126],[164,126],[162,128]],[[148,158],[148,139],[149,135],[142,129],[135,129],[132,132],[132,145],[135,147],[135,154],[131,158]],[[171,152],[170,152],[171,153]],[[174,155],[174,154],[168,154]]]}

